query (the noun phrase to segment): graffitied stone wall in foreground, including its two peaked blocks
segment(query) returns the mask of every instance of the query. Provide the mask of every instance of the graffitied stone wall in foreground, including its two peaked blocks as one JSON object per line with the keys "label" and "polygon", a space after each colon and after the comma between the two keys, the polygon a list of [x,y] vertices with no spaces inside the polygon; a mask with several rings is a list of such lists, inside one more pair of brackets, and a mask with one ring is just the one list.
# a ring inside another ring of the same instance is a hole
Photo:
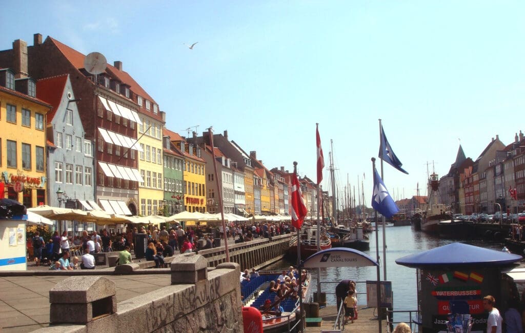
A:
{"label": "graffitied stone wall in foreground, including its two peaked blocks", "polygon": [[[113,284],[110,280],[103,277],[70,277],[50,290],[50,301],[66,302],[64,297],[53,296],[54,293],[85,293],[85,297],[74,297],[80,299],[81,304],[51,304],[51,325],[36,332],[242,332],[239,265],[225,263],[215,269],[207,269],[206,265],[207,261],[202,256],[185,256],[184,260],[172,263],[171,286],[122,301],[116,307],[103,304],[114,301],[114,285],[102,287]],[[174,281],[174,276],[184,283]],[[82,282],[86,278],[91,280]],[[188,283],[192,278],[194,283]],[[83,310],[82,306],[87,310]],[[82,315],[75,318],[72,308]],[[100,308],[107,309],[108,313],[103,313]],[[57,315],[60,313],[64,316],[63,320]]]}

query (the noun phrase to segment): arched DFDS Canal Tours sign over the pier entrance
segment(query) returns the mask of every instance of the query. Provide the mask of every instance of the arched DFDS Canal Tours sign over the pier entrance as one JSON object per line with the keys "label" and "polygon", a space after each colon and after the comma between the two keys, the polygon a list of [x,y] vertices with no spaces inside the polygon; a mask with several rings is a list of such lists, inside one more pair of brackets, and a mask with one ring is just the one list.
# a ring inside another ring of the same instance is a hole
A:
{"label": "arched DFDS Canal Tours sign over the pier entrance", "polygon": [[309,256],[304,268],[377,266],[377,262],[366,253],[353,248],[335,247]]}

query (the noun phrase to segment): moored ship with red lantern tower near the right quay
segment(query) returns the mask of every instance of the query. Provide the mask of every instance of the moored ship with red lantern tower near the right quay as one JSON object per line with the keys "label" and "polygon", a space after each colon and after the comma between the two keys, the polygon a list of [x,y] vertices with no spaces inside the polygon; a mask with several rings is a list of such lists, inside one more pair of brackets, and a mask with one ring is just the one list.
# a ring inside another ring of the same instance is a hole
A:
{"label": "moored ship with red lantern tower near the right quay", "polygon": [[452,216],[446,211],[446,206],[439,203],[439,178],[433,172],[428,178],[428,203],[426,211],[423,211],[421,218],[421,231],[429,234],[439,234],[438,223],[440,221],[451,220]]}

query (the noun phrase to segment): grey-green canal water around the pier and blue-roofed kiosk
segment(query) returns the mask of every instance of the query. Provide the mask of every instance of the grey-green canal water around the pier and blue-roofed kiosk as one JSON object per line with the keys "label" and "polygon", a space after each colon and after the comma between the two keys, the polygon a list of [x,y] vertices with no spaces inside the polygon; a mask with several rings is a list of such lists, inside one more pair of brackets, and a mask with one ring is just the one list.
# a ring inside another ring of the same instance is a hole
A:
{"label": "grey-green canal water around the pier and blue-roofed kiosk", "polygon": [[[417,309],[417,292],[416,292],[416,269],[397,265],[395,260],[407,255],[423,252],[428,249],[443,246],[453,242],[462,242],[465,244],[476,245],[485,248],[500,250],[502,243],[487,240],[444,240],[437,236],[428,235],[421,231],[415,231],[411,226],[387,226],[386,233],[386,279],[392,282],[394,296],[394,310],[416,310]],[[381,279],[383,279],[383,229],[379,228],[379,252],[381,264]],[[375,234],[369,234],[370,250],[366,254],[376,258]],[[264,268],[277,269],[296,265],[295,262],[287,260],[279,261],[271,266]],[[317,272],[312,273],[312,291],[317,290]],[[321,291],[327,293],[328,304],[335,304],[334,289],[335,285],[342,279],[352,279],[358,282],[356,289],[358,292],[359,307],[366,306],[366,280],[376,280],[376,267],[332,267],[321,268]],[[312,293],[313,295],[313,293]],[[407,320],[403,315],[396,315],[395,321]],[[407,315],[408,318],[408,315]]]}

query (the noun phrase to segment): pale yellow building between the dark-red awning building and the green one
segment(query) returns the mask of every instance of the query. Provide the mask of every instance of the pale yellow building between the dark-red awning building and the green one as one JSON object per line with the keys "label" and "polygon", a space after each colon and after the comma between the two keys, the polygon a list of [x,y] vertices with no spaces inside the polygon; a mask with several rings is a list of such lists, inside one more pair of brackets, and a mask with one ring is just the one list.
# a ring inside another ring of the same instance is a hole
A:
{"label": "pale yellow building between the dark-red awning building and the green one", "polygon": [[[155,108],[156,105],[153,105]],[[159,111],[156,114],[158,115]],[[143,183],[139,183],[139,214],[146,216],[158,214],[163,209],[164,200],[164,166],[163,166],[163,127],[164,122],[159,117],[149,117],[140,114],[142,124],[139,125],[139,151],[138,168]]]}

